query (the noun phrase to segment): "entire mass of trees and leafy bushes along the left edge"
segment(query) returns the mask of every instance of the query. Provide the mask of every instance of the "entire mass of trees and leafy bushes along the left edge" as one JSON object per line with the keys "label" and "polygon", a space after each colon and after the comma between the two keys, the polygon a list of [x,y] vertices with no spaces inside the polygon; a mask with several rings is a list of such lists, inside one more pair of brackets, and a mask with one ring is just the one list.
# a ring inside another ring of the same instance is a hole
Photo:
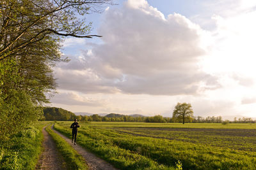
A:
{"label": "entire mass of trees and leafy bushes along the left edge", "polygon": [[[52,66],[65,36],[92,38],[83,15],[111,0],[0,1],[0,141],[42,115],[38,106],[55,92]],[[8,122],[8,124],[6,124]]]}

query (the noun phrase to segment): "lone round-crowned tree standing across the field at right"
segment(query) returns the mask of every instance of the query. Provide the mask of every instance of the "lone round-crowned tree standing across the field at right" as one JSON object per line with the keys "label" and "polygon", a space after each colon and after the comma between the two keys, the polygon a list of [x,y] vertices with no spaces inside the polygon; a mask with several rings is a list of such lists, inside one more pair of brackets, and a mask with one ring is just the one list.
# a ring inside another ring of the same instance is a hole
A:
{"label": "lone round-crowned tree standing across the field at right", "polygon": [[177,120],[182,120],[183,124],[185,124],[185,121],[190,121],[193,118],[193,110],[191,104],[177,103],[173,110],[172,117]]}

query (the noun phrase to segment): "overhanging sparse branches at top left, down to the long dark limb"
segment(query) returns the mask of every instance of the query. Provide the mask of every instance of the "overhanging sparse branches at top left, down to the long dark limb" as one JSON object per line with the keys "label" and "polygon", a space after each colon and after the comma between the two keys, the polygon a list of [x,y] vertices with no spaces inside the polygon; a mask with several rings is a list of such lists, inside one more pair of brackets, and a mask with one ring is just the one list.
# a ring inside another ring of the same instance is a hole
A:
{"label": "overhanging sparse branches at top left, down to the long dark limb", "polygon": [[77,17],[99,11],[111,0],[2,0],[0,60],[20,53],[53,34],[92,38],[91,23]]}

